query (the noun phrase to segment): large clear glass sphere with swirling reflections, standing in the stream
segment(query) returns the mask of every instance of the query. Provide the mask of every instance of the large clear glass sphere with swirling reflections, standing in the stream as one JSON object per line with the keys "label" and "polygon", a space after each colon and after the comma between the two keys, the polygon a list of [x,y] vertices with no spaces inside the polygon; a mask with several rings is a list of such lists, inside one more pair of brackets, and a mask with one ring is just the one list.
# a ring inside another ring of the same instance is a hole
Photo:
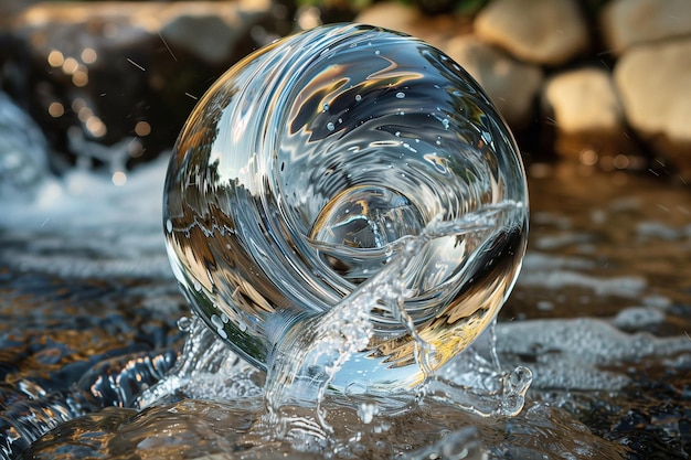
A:
{"label": "large clear glass sphere with swirling reflections, standing in the stream", "polygon": [[416,341],[434,351],[432,371],[468,346],[513,287],[528,234],[521,159],[482,89],[424,42],[358,24],[289,36],[227,71],[178,138],[163,201],[183,292],[262,368],[401,242],[495,210],[491,225],[435,238],[390,280],[407,321],[372,306],[366,346],[332,382],[343,388],[418,383]]}

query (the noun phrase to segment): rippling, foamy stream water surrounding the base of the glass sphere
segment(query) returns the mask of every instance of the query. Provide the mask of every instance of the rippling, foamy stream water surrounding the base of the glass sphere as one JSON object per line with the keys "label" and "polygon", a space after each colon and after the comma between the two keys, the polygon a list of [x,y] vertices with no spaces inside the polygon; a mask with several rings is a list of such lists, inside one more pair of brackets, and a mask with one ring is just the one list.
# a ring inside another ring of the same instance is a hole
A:
{"label": "rippling, foamy stream water surrounding the base of the glass sphere", "polygon": [[497,324],[416,392],[349,382],[315,405],[277,397],[190,317],[163,243],[167,164],[3,191],[0,458],[691,454],[685,184],[531,164],[530,244]]}

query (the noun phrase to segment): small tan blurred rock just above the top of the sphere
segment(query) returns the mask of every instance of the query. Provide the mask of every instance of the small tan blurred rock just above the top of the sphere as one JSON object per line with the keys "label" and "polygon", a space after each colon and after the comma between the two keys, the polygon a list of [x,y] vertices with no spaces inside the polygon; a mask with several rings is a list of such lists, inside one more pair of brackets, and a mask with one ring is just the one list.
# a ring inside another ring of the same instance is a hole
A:
{"label": "small tan blurred rock just above the top of the sphere", "polygon": [[440,49],[449,39],[471,31],[471,20],[468,17],[423,15],[417,8],[397,1],[374,3],[358,14],[354,22],[407,33]]}

